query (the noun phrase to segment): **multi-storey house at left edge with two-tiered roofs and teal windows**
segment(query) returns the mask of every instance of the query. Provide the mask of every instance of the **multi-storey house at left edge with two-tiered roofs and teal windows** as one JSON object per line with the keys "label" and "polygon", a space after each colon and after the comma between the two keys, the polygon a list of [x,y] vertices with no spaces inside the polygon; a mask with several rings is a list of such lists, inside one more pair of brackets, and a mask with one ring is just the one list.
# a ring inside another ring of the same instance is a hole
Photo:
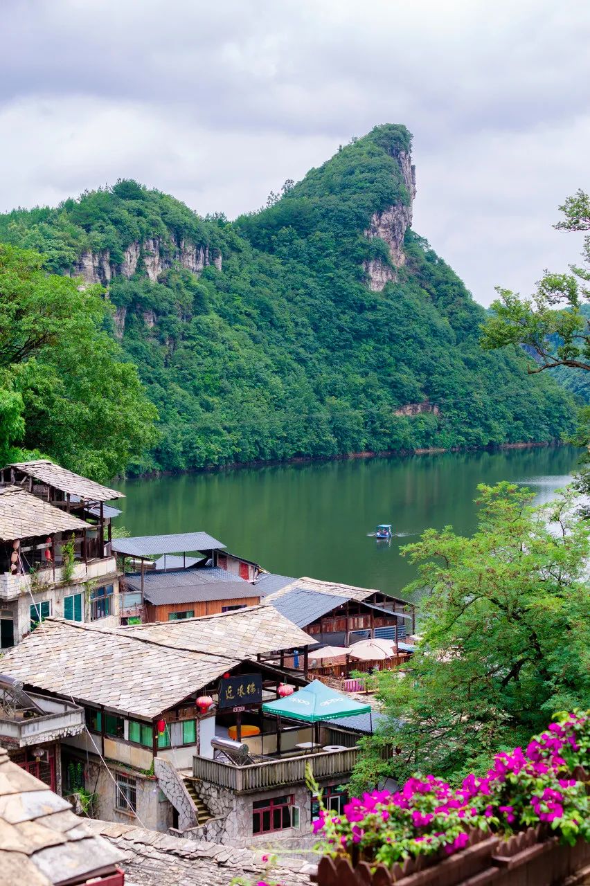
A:
{"label": "multi-storey house at left edge with two-tiered roofs and teal windows", "polygon": [[53,462],[0,471],[0,641],[8,649],[43,618],[118,624],[119,573],[105,501],[121,494]]}

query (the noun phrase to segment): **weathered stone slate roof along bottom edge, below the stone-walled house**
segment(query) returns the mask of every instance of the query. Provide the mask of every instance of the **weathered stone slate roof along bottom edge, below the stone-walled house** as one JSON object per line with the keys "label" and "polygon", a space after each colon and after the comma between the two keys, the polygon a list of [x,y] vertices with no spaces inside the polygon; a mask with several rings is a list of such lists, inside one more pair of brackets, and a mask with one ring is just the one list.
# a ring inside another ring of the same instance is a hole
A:
{"label": "weathered stone slate roof along bottom edge, below the stone-walled house", "polygon": [[311,886],[309,875],[316,870],[301,855],[287,859],[281,853],[277,867],[268,869],[262,861],[263,851],[189,840],[109,821],[89,820],[89,828],[123,853],[120,867],[129,886],[229,886],[236,877],[252,883],[268,879],[285,886]]}

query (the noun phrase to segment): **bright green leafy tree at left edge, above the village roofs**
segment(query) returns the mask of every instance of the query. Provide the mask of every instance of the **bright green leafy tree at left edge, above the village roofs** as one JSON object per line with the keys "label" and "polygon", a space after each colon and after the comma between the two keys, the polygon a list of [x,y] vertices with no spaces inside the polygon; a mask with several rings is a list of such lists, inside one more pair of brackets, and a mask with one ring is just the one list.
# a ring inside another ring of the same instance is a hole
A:
{"label": "bright green leafy tree at left edge, above the village roofs", "polygon": [[107,332],[100,287],[42,266],[0,245],[0,458],[45,455],[106,480],[154,443],[157,412]]}

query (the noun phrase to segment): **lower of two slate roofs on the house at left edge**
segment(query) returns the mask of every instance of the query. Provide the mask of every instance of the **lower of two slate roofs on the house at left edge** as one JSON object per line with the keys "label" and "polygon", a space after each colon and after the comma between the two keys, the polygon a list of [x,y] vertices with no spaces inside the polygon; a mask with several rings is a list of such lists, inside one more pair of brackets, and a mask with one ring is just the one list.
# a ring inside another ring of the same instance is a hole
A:
{"label": "lower of two slate roofs on the house at left edge", "polygon": [[0,540],[88,528],[88,523],[41,501],[20,486],[0,486]]}

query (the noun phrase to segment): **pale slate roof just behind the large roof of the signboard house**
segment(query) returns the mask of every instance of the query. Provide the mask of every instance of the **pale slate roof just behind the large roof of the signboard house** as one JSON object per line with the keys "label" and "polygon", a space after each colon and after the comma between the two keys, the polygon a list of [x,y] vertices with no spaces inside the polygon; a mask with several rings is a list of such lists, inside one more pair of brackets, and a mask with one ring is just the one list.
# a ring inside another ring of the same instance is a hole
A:
{"label": "pale slate roof just behind the large roof of the signboard house", "polygon": [[272,606],[248,606],[221,615],[121,627],[118,633],[162,643],[173,649],[221,652],[240,659],[316,645],[307,633],[300,631]]}

